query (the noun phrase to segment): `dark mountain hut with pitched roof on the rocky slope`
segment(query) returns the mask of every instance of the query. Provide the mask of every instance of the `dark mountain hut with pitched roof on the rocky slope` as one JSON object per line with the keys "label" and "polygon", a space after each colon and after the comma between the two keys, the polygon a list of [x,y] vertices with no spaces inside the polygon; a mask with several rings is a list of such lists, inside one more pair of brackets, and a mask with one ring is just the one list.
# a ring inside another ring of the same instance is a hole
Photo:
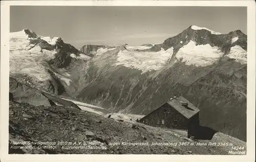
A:
{"label": "dark mountain hut with pitched roof on the rocky slope", "polygon": [[199,127],[199,109],[182,96],[174,97],[139,122],[154,127],[187,130],[188,137],[197,133]]}

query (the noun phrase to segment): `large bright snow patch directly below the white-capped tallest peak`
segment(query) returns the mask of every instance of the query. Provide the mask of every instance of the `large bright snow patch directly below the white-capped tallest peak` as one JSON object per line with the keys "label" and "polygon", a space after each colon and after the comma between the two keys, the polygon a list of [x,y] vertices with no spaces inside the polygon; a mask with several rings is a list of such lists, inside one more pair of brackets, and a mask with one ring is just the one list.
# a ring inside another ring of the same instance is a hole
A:
{"label": "large bright snow patch directly below the white-capped tallest peak", "polygon": [[223,55],[224,53],[218,50],[218,47],[211,47],[209,44],[196,45],[196,42],[190,40],[180,48],[176,58],[185,62],[186,65],[198,67],[212,65]]}

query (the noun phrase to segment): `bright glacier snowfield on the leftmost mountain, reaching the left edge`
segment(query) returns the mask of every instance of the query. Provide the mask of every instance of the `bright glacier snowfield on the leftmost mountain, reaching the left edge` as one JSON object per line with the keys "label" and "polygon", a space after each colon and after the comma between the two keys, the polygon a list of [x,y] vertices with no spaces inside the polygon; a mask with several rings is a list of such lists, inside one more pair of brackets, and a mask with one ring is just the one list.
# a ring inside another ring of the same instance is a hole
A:
{"label": "bright glacier snowfield on the leftmost mountain, reaching the left edge", "polygon": [[51,79],[44,65],[55,57],[56,51],[41,50],[38,45],[31,49],[24,31],[10,33],[10,36],[10,74],[27,74],[35,82]]}

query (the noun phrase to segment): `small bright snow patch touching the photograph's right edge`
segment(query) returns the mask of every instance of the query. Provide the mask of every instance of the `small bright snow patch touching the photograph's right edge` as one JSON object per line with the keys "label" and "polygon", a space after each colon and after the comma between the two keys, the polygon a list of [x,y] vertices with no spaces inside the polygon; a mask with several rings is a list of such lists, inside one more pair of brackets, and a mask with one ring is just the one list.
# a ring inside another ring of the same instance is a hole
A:
{"label": "small bright snow patch touching the photograph's right edge", "polygon": [[239,45],[235,45],[230,48],[229,54],[226,55],[229,58],[236,59],[237,62],[241,64],[247,63],[247,52],[241,48]]}

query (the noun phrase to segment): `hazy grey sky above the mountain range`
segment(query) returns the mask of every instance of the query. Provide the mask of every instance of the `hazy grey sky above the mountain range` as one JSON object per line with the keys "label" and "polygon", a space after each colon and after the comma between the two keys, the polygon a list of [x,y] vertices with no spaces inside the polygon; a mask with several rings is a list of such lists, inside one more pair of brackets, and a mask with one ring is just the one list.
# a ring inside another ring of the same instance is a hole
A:
{"label": "hazy grey sky above the mountain range", "polygon": [[30,29],[61,37],[80,49],[85,44],[162,43],[190,25],[223,34],[247,34],[246,7],[11,6],[10,32]]}

